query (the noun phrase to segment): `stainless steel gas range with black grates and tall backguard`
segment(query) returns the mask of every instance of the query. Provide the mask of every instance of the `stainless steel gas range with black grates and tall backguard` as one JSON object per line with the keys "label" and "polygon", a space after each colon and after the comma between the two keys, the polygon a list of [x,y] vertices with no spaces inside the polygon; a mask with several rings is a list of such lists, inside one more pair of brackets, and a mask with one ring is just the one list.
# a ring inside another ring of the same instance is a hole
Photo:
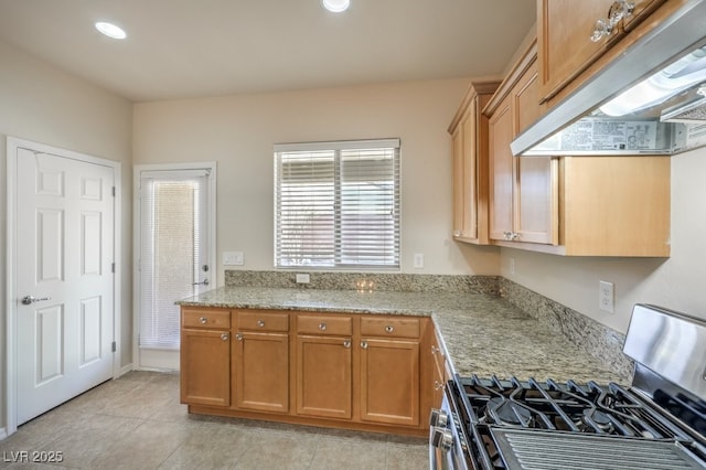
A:
{"label": "stainless steel gas range with black grates and tall backguard", "polygon": [[635,305],[632,385],[456,376],[430,417],[435,469],[706,469],[706,321]]}

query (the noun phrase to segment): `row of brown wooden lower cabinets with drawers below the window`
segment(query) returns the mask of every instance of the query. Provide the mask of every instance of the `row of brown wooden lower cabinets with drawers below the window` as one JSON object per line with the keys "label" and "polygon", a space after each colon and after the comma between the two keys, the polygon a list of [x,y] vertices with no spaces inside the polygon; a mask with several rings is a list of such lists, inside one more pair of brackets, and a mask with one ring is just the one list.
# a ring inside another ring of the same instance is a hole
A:
{"label": "row of brown wooden lower cabinets with drawers below the window", "polygon": [[[206,312],[220,322],[203,325]],[[435,367],[421,351],[432,337],[424,317],[182,307],[181,402],[197,414],[425,436]]]}

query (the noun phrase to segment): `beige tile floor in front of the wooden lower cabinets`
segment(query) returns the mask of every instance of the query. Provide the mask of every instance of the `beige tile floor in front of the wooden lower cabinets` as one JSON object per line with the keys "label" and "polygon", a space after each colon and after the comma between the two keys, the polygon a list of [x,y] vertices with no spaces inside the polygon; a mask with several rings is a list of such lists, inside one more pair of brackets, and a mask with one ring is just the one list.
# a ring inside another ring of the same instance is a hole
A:
{"label": "beige tile floor in front of the wooden lower cabinets", "polygon": [[[17,462],[33,452],[49,464]],[[42,456],[42,453],[39,453]],[[422,438],[189,415],[179,375],[130,372],[0,440],[20,469],[427,469]]]}

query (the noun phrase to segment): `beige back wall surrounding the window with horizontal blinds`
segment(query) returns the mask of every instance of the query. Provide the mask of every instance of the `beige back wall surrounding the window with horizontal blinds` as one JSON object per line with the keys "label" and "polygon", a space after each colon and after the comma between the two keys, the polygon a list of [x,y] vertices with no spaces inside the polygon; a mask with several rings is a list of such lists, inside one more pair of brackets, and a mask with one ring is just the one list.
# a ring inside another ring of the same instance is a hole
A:
{"label": "beige back wall surrounding the window with horizontal blinds", "polygon": [[[135,106],[135,164],[217,162],[217,253],[272,269],[272,145],[399,137],[404,273],[496,274],[499,250],[451,234],[447,127],[468,79],[225,96]],[[425,268],[413,255],[425,255]],[[218,260],[220,261],[220,260]],[[223,266],[218,266],[223,273]],[[223,282],[224,276],[220,275]]]}

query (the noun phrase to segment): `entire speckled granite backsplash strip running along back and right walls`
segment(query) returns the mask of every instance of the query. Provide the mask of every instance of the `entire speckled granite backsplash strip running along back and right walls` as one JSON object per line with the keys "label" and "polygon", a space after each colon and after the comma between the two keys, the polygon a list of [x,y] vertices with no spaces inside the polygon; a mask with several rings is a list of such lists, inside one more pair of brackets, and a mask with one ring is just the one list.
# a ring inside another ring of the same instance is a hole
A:
{"label": "entire speckled granite backsplash strip running along back and right walls", "polygon": [[[306,273],[306,270],[303,270]],[[226,270],[226,286],[355,290],[357,282],[373,289],[403,292],[470,292],[505,298],[525,313],[564,334],[577,346],[617,373],[631,377],[633,364],[622,353],[624,334],[582,313],[541,296],[501,276],[309,273],[309,284],[297,284],[296,271]]]}

